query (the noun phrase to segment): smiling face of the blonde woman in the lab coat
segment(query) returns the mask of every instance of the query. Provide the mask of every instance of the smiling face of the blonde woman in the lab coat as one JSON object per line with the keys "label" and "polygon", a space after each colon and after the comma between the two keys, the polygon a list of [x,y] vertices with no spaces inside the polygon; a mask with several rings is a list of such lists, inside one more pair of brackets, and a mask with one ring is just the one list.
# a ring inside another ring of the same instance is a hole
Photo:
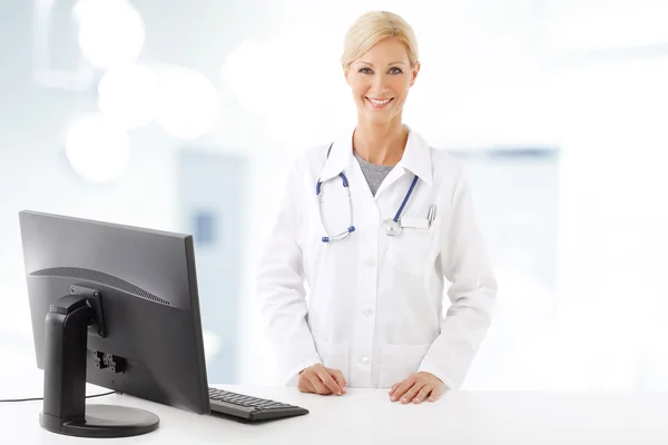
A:
{"label": "smiling face of the blonde woman in the lab coat", "polygon": [[381,40],[354,60],[345,69],[345,77],[360,119],[372,123],[401,119],[409,89],[419,71],[420,63],[411,67],[405,46],[394,38]]}

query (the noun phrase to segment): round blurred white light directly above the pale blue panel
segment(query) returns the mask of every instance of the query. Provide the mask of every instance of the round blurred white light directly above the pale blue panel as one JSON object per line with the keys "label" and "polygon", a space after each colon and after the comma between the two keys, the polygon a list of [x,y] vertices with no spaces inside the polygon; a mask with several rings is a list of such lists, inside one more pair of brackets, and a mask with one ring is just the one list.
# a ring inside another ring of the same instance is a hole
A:
{"label": "round blurred white light directly above the pale blue panel", "polygon": [[193,139],[206,134],[219,113],[218,90],[203,73],[160,65],[157,75],[156,121],[174,137]]}

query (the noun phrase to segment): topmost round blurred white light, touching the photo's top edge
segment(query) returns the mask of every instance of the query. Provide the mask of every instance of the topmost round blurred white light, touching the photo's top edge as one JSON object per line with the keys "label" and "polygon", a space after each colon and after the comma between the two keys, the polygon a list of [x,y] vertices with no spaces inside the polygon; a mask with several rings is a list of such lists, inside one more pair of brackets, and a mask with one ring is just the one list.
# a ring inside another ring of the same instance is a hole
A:
{"label": "topmost round blurred white light, touching the photo's top edge", "polygon": [[127,0],[80,0],[73,9],[79,47],[96,68],[134,61],[144,47],[144,21]]}

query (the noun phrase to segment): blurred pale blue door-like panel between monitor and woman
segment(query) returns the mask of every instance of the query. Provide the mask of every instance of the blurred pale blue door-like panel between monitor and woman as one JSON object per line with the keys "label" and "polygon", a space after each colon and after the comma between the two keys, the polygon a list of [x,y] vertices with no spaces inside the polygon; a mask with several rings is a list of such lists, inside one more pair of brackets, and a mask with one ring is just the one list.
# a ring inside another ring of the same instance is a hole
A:
{"label": "blurred pale blue door-like panel between monitor and woman", "polygon": [[246,160],[184,149],[177,159],[180,230],[193,234],[197,287],[212,384],[238,383]]}

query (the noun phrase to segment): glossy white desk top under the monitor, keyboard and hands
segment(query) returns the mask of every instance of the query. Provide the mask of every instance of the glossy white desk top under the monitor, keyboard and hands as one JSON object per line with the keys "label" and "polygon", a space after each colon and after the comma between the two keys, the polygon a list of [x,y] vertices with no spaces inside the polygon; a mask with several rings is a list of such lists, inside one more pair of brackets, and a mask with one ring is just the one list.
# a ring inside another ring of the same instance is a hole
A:
{"label": "glossy white desk top under the monitor, keyboard and hands", "polygon": [[[668,444],[668,394],[452,392],[434,404],[400,405],[384,389],[343,397],[287,387],[220,386],[310,409],[259,425],[199,416],[127,395],[89,399],[154,412],[160,426],[122,444]],[[0,444],[90,444],[39,426],[41,402],[0,404]]]}

